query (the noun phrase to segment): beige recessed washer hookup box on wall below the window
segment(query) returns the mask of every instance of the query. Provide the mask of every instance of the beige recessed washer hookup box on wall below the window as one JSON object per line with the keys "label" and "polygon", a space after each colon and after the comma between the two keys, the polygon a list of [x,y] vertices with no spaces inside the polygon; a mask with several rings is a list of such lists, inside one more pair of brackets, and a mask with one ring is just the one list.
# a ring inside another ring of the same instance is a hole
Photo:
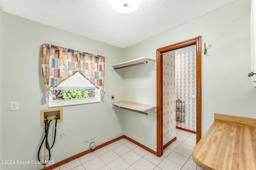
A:
{"label": "beige recessed washer hookup box on wall below the window", "polygon": [[52,120],[51,123],[56,122],[56,115],[58,115],[58,121],[63,121],[63,108],[46,109],[40,111],[41,126],[44,125],[44,119],[47,116],[48,121]]}

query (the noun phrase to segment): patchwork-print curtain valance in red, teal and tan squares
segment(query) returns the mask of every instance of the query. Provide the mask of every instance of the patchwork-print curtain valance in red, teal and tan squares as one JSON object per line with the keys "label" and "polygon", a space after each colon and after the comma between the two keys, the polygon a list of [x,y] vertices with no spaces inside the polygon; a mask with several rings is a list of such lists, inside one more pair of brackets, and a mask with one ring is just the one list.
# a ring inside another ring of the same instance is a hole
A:
{"label": "patchwork-print curtain valance in red, teal and tan squares", "polygon": [[52,88],[77,72],[104,93],[105,57],[43,44],[42,74],[47,89],[47,101],[52,94]]}

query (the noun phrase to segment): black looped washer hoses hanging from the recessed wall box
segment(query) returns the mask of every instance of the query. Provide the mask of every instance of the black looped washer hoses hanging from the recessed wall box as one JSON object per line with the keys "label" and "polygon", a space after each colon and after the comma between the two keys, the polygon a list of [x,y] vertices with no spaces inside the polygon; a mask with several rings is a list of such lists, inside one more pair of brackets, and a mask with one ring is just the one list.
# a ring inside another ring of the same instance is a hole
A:
{"label": "black looped washer hoses hanging from the recessed wall box", "polygon": [[[53,145],[54,145],[54,142],[55,142],[55,138],[56,138],[56,126],[57,126],[57,121],[58,121],[58,115],[56,115],[55,130],[54,130],[54,140],[53,140],[52,146],[49,147],[49,143],[48,143],[48,133],[49,133],[49,127],[50,127],[51,121],[52,121],[52,120],[50,120],[50,121],[48,122],[47,117],[44,119],[44,133],[45,133],[44,139],[46,139],[45,146],[46,146],[46,149],[47,149],[48,152],[49,152],[49,159],[48,159],[47,162],[49,162],[50,159],[51,159],[51,152],[50,152],[50,149],[52,149],[52,147],[53,147]],[[43,143],[44,143],[44,139],[43,139],[43,141],[42,141],[42,143],[41,143],[41,145],[40,145],[40,147],[39,147],[38,155],[37,155],[37,156],[38,156],[38,161],[39,161],[41,164],[46,165],[46,162],[42,162],[42,161],[40,160],[40,158],[39,158],[40,150],[41,150],[41,147],[42,147],[42,145],[43,145]]]}

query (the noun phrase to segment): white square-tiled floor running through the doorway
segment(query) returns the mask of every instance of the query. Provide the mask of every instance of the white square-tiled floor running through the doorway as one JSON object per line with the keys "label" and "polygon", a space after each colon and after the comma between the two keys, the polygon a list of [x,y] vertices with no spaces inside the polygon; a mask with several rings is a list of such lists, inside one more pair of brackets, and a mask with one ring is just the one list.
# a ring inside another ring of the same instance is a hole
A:
{"label": "white square-tiled floor running through the doorway", "polygon": [[196,134],[176,129],[176,137],[160,158],[123,138],[54,170],[196,170]]}

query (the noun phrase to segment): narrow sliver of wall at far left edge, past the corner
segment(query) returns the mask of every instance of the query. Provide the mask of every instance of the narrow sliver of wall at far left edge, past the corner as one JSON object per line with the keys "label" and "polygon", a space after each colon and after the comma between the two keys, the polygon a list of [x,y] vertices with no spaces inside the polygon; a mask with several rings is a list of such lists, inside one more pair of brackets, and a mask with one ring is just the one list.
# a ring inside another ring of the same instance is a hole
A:
{"label": "narrow sliver of wall at far left edge, past the corner", "polygon": [[[0,94],[3,94],[3,75],[4,75],[4,62],[3,62],[3,16],[4,12],[2,11],[2,8],[0,7]],[[4,121],[3,121],[3,95],[0,97],[0,160],[4,159]],[[0,170],[2,170],[2,164],[0,164]]]}

